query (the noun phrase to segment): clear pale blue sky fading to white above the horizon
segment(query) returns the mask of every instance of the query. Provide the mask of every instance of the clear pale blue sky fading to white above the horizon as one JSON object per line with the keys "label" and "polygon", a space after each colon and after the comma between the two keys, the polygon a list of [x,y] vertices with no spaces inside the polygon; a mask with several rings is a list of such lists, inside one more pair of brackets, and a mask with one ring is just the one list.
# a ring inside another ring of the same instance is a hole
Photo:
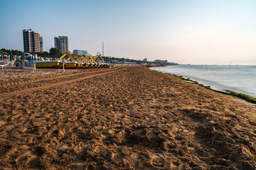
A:
{"label": "clear pale blue sky fading to white above the horizon", "polygon": [[23,49],[22,29],[68,36],[69,50],[179,64],[256,64],[255,0],[0,0],[0,48]]}

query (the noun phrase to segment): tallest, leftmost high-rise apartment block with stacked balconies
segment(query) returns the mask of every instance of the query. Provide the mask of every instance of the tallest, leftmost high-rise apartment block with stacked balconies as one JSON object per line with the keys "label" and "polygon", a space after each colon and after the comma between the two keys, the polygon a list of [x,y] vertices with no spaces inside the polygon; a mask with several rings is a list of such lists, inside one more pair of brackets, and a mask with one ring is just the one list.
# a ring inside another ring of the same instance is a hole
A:
{"label": "tallest, leftmost high-rise apartment block with stacked balconies", "polygon": [[33,29],[23,30],[24,52],[43,52],[43,38]]}

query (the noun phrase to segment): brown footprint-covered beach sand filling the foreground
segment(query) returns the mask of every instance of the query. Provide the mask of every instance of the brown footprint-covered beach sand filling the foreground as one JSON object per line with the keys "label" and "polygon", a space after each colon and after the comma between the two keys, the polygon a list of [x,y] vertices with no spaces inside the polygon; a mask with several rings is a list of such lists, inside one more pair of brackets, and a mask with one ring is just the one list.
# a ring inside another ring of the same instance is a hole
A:
{"label": "brown footprint-covered beach sand filling the foreground", "polygon": [[0,168],[256,168],[255,105],[170,74],[118,67],[0,77]]}

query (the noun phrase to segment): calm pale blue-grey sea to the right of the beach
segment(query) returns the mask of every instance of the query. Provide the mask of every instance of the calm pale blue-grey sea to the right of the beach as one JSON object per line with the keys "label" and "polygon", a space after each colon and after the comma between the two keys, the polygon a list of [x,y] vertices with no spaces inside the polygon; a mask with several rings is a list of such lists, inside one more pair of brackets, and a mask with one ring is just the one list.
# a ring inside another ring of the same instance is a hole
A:
{"label": "calm pale blue-grey sea to the right of the beach", "polygon": [[176,74],[216,90],[234,90],[256,97],[256,66],[166,66],[151,69]]}

